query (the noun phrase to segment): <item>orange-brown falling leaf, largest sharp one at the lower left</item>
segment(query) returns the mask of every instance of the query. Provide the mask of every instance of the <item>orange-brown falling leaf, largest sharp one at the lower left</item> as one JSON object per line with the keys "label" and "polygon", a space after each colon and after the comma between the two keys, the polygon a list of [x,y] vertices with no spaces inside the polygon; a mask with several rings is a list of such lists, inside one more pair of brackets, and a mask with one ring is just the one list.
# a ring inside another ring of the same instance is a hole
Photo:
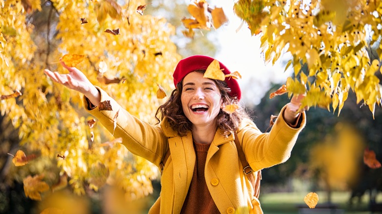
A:
{"label": "orange-brown falling leaf, largest sharp one at the lower left", "polygon": [[43,178],[44,175],[35,175],[33,177],[28,175],[28,177],[24,178],[24,193],[26,197],[41,201],[40,193],[49,190],[48,184],[42,181]]}

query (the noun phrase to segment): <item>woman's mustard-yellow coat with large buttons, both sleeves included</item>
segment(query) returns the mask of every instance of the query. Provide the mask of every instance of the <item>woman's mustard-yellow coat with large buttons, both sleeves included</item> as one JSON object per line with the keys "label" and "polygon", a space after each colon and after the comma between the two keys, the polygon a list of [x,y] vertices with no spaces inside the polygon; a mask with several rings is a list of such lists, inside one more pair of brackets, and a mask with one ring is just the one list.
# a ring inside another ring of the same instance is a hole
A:
{"label": "woman's mustard-yellow coat with large buttons, both sleeves included", "polygon": [[[114,136],[122,137],[122,144],[130,152],[159,166],[167,149],[170,150],[161,178],[161,195],[149,213],[179,214],[195,165],[191,132],[180,137],[168,126],[166,120],[160,126],[145,123],[120,107],[106,92],[100,88],[98,90],[101,92],[101,102],[110,100],[113,111],[94,108],[89,112],[113,132],[113,118],[119,110]],[[86,100],[84,104],[88,109]],[[251,168],[258,171],[287,161],[305,123],[305,113],[299,128],[291,128],[280,116],[269,133],[262,133],[252,121],[243,120],[237,134]],[[217,208],[220,213],[262,214],[260,202],[253,197],[253,188],[242,171],[234,134],[223,136],[221,133],[220,129],[216,131],[205,166],[207,186]]]}

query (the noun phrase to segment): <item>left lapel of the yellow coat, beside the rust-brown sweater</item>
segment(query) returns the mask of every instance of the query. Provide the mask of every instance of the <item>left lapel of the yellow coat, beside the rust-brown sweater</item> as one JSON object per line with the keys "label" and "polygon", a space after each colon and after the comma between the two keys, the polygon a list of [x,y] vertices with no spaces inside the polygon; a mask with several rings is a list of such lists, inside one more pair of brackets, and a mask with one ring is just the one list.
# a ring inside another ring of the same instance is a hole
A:
{"label": "left lapel of the yellow coat, beside the rust-brown sweater", "polygon": [[[195,151],[193,149],[191,132],[184,137],[172,137],[168,139],[174,179],[174,210],[173,213],[180,213],[184,200],[186,199],[190,187],[192,174],[195,167]],[[185,191],[186,190],[186,191]]]}

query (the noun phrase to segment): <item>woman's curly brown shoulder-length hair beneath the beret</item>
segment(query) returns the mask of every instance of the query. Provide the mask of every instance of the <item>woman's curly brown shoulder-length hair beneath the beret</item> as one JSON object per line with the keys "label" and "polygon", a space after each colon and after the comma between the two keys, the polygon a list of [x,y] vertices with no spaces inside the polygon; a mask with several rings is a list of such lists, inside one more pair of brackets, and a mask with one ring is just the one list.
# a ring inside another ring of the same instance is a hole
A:
{"label": "woman's curly brown shoulder-length hair beneath the beret", "polygon": [[[195,72],[204,74],[206,70],[195,70]],[[230,104],[237,104],[239,106],[239,100],[237,97],[231,97],[229,95],[231,89],[227,86],[225,81],[214,79],[212,80],[220,90],[223,106]],[[177,131],[179,136],[185,136],[188,131],[192,130],[192,123],[183,112],[181,101],[182,89],[183,80],[176,85],[176,88],[172,91],[170,98],[166,101],[165,104],[158,107],[155,114],[155,118],[158,120],[158,124],[164,118],[166,118],[170,127]],[[160,115],[160,119],[158,115]],[[237,109],[232,114],[228,114],[220,109],[216,116],[216,128],[221,128],[224,130],[223,134],[228,134],[228,132],[238,129],[241,120],[244,118],[249,118],[249,116],[248,113],[240,106],[239,109]]]}

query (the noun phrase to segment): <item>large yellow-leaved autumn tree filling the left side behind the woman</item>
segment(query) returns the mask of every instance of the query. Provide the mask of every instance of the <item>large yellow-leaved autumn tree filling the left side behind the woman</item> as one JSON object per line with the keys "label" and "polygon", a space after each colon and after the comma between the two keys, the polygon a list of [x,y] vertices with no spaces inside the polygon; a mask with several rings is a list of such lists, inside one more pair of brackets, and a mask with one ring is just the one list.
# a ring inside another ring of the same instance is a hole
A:
{"label": "large yellow-leaved autumn tree filling the left side behind the woman", "polygon": [[[1,156],[2,182],[24,180],[26,191],[32,191],[27,196],[34,199],[44,198],[48,189],[65,188],[65,182],[78,195],[105,184],[118,186],[130,199],[152,192],[157,168],[129,153],[84,112],[80,94],[54,84],[43,72],[65,72],[61,57],[82,56],[76,67],[93,84],[154,123],[162,102],[156,97],[158,85],[172,90],[180,55],[170,40],[174,27],[138,13],[144,3],[0,0],[0,135],[11,137],[2,141],[9,153]],[[12,159],[19,149],[36,158],[15,167]],[[49,170],[52,164],[58,171]]]}

